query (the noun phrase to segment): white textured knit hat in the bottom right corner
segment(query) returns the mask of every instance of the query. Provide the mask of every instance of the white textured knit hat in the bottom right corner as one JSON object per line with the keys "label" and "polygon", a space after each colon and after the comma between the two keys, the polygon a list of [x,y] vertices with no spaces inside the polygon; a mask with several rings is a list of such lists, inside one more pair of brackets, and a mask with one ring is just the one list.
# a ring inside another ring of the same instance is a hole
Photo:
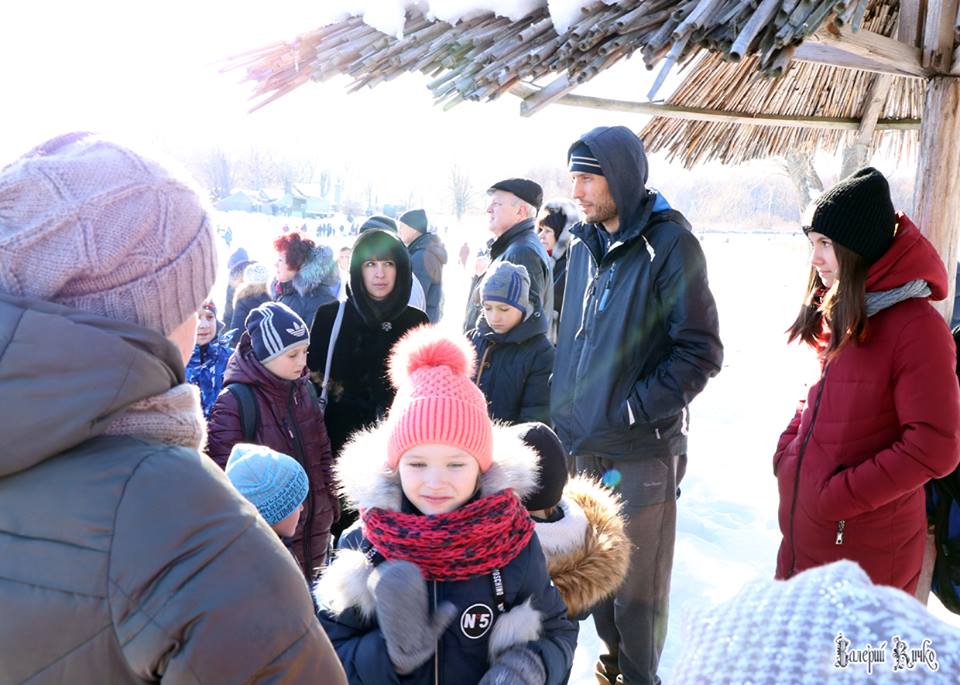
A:
{"label": "white textured knit hat in the bottom right corner", "polygon": [[[945,683],[960,673],[960,629],[852,561],[750,583],[688,615],[682,644],[676,685]],[[871,672],[857,657],[872,657]]]}

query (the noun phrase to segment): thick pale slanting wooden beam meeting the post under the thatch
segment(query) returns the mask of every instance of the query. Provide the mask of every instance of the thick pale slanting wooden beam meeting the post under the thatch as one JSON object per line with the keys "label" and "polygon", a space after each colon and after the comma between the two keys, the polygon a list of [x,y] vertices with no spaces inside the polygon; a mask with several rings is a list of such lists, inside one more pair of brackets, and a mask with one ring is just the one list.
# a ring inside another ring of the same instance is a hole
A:
{"label": "thick pale slanting wooden beam meeting the post under the thatch", "polygon": [[847,26],[837,29],[831,25],[814,33],[797,46],[794,56],[805,62],[880,74],[929,76],[929,70],[920,62],[918,48],[872,31],[854,33]]}

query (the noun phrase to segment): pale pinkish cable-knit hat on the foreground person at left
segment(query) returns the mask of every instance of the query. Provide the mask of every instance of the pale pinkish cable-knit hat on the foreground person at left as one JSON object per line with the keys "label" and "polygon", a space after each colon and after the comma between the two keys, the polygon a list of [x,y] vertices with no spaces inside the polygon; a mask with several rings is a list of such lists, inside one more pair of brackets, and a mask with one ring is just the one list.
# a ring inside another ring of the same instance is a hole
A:
{"label": "pale pinkish cable-knit hat on the foreground person at left", "polygon": [[68,133],[0,171],[0,291],[169,335],[216,273],[206,202],[126,147]]}

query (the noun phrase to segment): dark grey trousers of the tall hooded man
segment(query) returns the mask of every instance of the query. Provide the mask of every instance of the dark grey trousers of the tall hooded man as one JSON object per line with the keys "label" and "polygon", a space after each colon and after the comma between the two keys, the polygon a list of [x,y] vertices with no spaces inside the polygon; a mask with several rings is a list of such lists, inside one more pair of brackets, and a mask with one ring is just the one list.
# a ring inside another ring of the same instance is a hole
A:
{"label": "dark grey trousers of the tall hooded man", "polygon": [[657,666],[667,637],[670,572],[677,533],[677,485],[687,468],[687,456],[637,457],[611,461],[578,456],[581,472],[603,478],[623,499],[630,538],[630,568],[611,599],[593,609],[597,634],[606,646],[598,673],[611,683],[621,676],[625,685],[660,683]]}

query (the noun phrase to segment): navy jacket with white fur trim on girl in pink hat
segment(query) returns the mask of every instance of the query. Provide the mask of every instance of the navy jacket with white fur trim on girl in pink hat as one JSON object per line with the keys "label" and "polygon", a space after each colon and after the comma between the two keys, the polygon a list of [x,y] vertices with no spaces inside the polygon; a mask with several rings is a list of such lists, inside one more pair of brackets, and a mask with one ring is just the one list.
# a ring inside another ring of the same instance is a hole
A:
{"label": "navy jacket with white fur trim on girl in pink hat", "polygon": [[[381,507],[400,511],[399,479],[395,472],[382,468],[386,442],[383,424],[362,431],[347,446],[337,464],[344,492],[361,509]],[[521,496],[536,487],[536,455],[505,428],[494,428],[493,458],[493,466],[480,477],[481,496],[508,488]],[[577,625],[566,617],[566,607],[547,575],[535,535],[501,569],[508,610],[495,616],[491,628],[483,635],[468,636],[462,616],[477,604],[496,607],[489,575],[428,582],[433,608],[451,602],[457,608],[457,615],[441,635],[434,657],[406,676],[394,671],[377,624],[376,603],[367,588],[367,578],[374,567],[359,549],[362,540],[361,524],[344,534],[341,549],[314,591],[320,607],[320,622],[340,656],[350,683],[477,683],[490,667],[491,642],[501,650],[523,646],[534,651],[543,661],[546,685],[566,681],[576,649]],[[535,611],[530,611],[531,606]],[[528,636],[535,633],[538,623],[539,638],[529,641]]]}

